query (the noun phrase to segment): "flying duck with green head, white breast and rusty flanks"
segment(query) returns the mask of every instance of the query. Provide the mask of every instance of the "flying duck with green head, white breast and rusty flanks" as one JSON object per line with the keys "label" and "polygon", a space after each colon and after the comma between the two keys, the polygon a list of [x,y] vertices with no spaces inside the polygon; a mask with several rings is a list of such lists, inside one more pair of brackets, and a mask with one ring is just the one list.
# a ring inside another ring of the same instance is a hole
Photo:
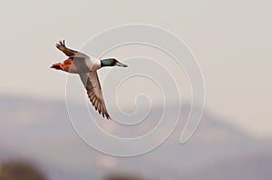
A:
{"label": "flying duck with green head, white breast and rusty flanks", "polygon": [[68,59],[64,60],[62,63],[53,64],[51,68],[80,75],[83,85],[87,90],[87,95],[89,96],[95,110],[97,110],[103,117],[111,119],[102,97],[102,89],[97,75],[97,70],[106,66],[117,65],[127,67],[128,65],[123,65],[114,58],[99,60],[81,52],[74,51],[73,49],[66,47],[64,40],[63,42],[60,41],[56,44],[56,47],[67,55]]}

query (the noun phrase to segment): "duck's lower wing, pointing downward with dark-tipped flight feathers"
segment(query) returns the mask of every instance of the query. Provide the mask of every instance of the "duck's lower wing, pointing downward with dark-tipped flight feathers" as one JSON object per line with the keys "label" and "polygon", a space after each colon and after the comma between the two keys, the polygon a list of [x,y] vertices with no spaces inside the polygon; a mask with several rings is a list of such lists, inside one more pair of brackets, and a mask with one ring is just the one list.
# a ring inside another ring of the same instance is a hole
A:
{"label": "duck's lower wing, pointing downward with dark-tipped flight feathers", "polygon": [[87,90],[87,95],[89,96],[92,105],[95,110],[99,112],[103,117],[111,119],[110,115],[107,112],[106,105],[102,97],[102,89],[99,83],[98,75],[96,71],[91,71],[86,74],[79,74],[83,85]]}

